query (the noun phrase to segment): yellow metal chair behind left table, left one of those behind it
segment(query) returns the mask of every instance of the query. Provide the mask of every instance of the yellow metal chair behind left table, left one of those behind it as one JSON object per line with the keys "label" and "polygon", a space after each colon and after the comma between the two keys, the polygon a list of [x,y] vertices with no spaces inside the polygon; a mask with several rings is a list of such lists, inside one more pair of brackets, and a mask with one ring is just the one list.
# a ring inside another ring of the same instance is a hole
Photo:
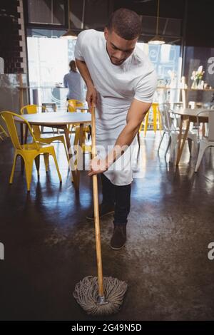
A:
{"label": "yellow metal chair behind left table, left one of those behind it", "polygon": [[[24,115],[24,112],[26,111],[26,114],[36,114],[36,113],[38,113],[39,108],[40,108],[39,105],[26,105],[26,106],[21,108],[20,113],[21,113],[21,115]],[[41,108],[43,108],[43,107],[41,107]],[[43,138],[43,137],[41,137],[41,131],[40,131],[39,125],[32,125],[31,128],[34,131],[34,136],[35,136],[36,140],[41,142],[41,143],[51,144],[55,140],[58,140],[61,143],[63,143],[65,151],[66,151],[66,158],[69,161],[68,151],[67,151],[67,148],[66,148],[66,142],[65,142],[65,139],[64,139],[63,135],[57,135],[57,136],[51,136],[49,138]]]}

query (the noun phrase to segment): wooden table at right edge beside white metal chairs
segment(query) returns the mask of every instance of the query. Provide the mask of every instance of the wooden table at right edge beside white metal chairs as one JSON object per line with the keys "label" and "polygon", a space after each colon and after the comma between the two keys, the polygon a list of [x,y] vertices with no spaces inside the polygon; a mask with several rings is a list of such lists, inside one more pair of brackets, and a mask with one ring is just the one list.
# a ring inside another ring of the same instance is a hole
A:
{"label": "wooden table at right edge beside white metal chairs", "polygon": [[[183,147],[185,145],[185,140],[188,137],[190,122],[208,123],[209,111],[210,110],[205,109],[205,108],[197,108],[197,109],[183,108],[183,109],[180,109],[180,110],[173,111],[173,113],[180,115],[180,128],[179,128],[179,136],[178,136],[178,152],[177,152],[177,158],[176,158],[176,165],[177,166],[180,162],[180,158],[181,158],[181,155],[183,153]],[[201,112],[205,112],[205,113],[200,114]],[[182,130],[183,130],[183,124],[184,124],[185,121],[186,121],[186,128],[185,128],[185,133],[183,135],[183,140],[182,140]]]}

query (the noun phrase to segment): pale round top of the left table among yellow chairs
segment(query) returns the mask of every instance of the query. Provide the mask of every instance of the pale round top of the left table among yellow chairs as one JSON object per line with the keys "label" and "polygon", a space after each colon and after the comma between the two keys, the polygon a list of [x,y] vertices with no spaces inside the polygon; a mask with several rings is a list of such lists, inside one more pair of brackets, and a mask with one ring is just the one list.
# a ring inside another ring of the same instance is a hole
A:
{"label": "pale round top of the left table among yellow chairs", "polygon": [[[21,115],[32,125],[71,125],[80,123],[91,123],[91,113],[36,113]],[[21,118],[14,118],[23,123]]]}

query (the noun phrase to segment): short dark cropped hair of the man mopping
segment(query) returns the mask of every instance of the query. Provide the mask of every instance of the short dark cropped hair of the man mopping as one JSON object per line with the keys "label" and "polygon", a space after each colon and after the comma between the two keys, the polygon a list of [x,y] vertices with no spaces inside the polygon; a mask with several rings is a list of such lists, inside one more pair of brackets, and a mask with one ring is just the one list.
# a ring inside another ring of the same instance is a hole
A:
{"label": "short dark cropped hair of the man mopping", "polygon": [[141,19],[135,11],[120,8],[111,14],[107,28],[126,40],[132,40],[141,34]]}

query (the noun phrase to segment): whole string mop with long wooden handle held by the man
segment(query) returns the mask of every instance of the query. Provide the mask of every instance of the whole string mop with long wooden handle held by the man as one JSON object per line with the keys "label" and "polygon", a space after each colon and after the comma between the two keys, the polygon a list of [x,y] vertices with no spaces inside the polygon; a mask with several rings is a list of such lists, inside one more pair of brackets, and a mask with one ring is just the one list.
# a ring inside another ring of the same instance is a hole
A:
{"label": "whole string mop with long wooden handle held by the man", "polygon": [[[96,124],[95,110],[91,108],[91,137],[92,158],[96,157]],[[94,316],[115,314],[123,303],[123,297],[128,285],[113,277],[103,277],[101,257],[101,233],[98,212],[98,182],[97,175],[93,175],[93,210],[96,237],[96,261],[98,277],[85,277],[73,292],[73,297],[87,314]]]}

